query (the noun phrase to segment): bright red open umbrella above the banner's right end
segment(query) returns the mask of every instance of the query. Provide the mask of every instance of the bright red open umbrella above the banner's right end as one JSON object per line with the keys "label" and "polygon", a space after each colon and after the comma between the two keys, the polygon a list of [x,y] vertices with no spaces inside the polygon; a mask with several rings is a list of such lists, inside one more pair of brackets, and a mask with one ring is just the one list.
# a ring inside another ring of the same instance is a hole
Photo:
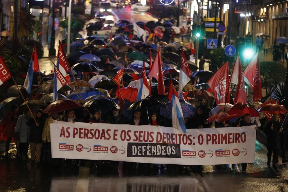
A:
{"label": "bright red open umbrella above the banner's right end", "polygon": [[259,117],[259,112],[256,111],[252,105],[247,103],[236,103],[229,111],[228,114],[240,114],[241,116],[245,114],[250,114],[251,117]]}

